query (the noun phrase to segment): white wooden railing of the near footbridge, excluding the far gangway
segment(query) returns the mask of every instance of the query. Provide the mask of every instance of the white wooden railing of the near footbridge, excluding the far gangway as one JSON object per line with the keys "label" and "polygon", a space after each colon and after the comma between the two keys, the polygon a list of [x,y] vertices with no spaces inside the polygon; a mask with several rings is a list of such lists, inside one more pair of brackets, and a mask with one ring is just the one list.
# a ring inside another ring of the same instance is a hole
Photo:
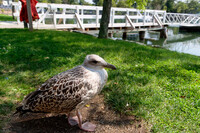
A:
{"label": "white wooden railing of the near footbridge, excluding the far gangway", "polygon": [[[18,23],[21,3],[13,2]],[[99,28],[102,7],[82,6],[68,4],[36,5],[40,19],[37,25],[53,25],[54,28]],[[162,10],[137,10],[132,8],[111,8],[109,27],[141,27],[162,26],[165,23],[166,11]]]}

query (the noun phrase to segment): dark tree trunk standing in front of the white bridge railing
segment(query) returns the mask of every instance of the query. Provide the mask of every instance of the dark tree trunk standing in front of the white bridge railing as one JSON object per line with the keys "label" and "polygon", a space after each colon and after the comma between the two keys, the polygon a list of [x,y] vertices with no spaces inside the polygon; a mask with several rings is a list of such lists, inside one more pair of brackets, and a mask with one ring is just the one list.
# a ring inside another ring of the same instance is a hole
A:
{"label": "dark tree trunk standing in front of the white bridge railing", "polygon": [[101,24],[99,30],[99,38],[108,37],[108,24],[110,21],[110,10],[112,6],[112,0],[103,1],[103,13],[101,17]]}

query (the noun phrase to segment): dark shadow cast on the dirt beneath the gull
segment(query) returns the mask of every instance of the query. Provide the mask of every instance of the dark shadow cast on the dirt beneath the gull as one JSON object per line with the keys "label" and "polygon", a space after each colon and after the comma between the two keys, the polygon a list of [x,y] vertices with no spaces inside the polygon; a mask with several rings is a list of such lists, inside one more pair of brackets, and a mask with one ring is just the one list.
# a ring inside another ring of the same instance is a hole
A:
{"label": "dark shadow cast on the dirt beneath the gull", "polygon": [[12,124],[12,131],[16,133],[39,133],[39,132],[66,132],[77,133],[81,132],[78,126],[70,126],[65,115],[30,120]]}

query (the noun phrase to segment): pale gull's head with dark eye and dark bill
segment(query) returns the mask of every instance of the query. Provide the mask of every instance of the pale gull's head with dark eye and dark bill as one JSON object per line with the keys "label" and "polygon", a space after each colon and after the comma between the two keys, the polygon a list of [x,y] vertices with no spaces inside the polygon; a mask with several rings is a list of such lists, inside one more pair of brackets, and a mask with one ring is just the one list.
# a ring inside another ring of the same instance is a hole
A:
{"label": "pale gull's head with dark eye and dark bill", "polygon": [[87,55],[83,62],[83,66],[92,69],[103,69],[103,68],[111,68],[113,70],[116,69],[114,65],[107,63],[103,58],[95,54]]}

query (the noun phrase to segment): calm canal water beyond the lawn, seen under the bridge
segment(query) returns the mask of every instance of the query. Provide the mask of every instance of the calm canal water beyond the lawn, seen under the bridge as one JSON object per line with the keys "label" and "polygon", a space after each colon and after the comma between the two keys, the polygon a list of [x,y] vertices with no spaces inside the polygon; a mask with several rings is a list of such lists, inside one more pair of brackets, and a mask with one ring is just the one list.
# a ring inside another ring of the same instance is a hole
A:
{"label": "calm canal water beyond the lawn, seen under the bridge", "polygon": [[[200,32],[182,32],[179,31],[179,27],[168,27],[167,34],[168,38],[162,39],[159,38],[159,32],[148,31],[145,33],[145,40],[139,41],[139,34],[137,32],[130,32],[127,35],[127,40],[200,56]],[[115,33],[113,37],[119,39],[122,35],[121,33]]]}

